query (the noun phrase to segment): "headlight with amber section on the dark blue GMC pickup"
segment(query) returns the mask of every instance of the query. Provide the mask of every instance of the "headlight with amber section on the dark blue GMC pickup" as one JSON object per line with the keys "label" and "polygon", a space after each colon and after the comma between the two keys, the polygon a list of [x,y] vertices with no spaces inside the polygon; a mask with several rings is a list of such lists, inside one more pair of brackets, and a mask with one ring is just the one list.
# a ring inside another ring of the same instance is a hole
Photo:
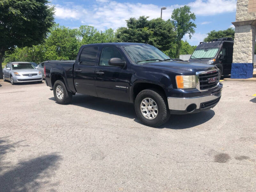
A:
{"label": "headlight with amber section on the dark blue GMC pickup", "polygon": [[196,76],[195,75],[177,75],[176,84],[178,89],[196,88]]}

